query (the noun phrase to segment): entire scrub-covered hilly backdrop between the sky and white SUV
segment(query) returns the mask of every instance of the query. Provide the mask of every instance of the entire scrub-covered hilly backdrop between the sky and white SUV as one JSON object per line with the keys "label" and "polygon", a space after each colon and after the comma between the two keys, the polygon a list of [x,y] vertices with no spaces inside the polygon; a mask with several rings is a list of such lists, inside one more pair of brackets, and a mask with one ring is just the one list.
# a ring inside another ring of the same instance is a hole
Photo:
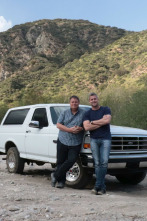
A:
{"label": "entire scrub-covered hilly backdrop between the sky and white SUV", "polygon": [[56,19],[0,33],[0,118],[8,107],[71,94],[88,103],[90,91],[111,107],[112,123],[147,129],[147,31]]}

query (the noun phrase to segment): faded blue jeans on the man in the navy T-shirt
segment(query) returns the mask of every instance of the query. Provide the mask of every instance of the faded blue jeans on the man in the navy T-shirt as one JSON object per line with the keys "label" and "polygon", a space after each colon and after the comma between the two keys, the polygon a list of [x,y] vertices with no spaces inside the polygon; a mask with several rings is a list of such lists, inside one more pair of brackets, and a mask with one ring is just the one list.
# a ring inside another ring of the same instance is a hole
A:
{"label": "faded blue jeans on the man in the navy T-shirt", "polygon": [[90,145],[95,165],[95,188],[105,190],[105,175],[107,173],[111,140],[91,138]]}

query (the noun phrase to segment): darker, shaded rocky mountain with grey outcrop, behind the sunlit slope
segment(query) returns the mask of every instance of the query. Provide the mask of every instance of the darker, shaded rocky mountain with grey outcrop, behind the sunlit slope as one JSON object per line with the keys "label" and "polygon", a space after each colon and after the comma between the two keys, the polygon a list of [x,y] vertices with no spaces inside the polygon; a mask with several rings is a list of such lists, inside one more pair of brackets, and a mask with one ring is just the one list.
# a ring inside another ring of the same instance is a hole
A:
{"label": "darker, shaded rocky mountain with grey outcrop, behind the sunlit slope", "polygon": [[34,88],[43,77],[47,78],[43,82],[46,87],[52,73],[68,62],[98,51],[127,33],[88,21],[62,19],[26,23],[0,33],[1,100],[6,98],[11,103],[16,96],[19,99],[21,90]]}

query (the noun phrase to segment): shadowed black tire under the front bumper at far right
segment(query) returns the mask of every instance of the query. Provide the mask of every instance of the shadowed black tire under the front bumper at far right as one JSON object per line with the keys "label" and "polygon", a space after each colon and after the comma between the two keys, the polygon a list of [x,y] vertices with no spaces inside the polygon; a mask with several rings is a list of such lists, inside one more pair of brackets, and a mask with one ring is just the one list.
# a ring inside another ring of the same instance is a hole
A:
{"label": "shadowed black tire under the front bumper at far right", "polygon": [[144,180],[146,177],[146,172],[137,172],[137,173],[128,173],[128,174],[119,174],[116,175],[118,181],[123,184],[132,184],[136,185]]}

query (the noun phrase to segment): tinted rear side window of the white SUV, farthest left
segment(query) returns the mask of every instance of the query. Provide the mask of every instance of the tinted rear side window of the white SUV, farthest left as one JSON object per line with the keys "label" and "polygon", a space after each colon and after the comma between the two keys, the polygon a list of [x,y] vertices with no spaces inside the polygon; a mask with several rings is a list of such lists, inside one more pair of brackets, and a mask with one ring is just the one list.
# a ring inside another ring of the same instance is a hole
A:
{"label": "tinted rear side window of the white SUV, farthest left", "polygon": [[10,111],[3,124],[4,125],[23,124],[28,111],[29,108]]}

